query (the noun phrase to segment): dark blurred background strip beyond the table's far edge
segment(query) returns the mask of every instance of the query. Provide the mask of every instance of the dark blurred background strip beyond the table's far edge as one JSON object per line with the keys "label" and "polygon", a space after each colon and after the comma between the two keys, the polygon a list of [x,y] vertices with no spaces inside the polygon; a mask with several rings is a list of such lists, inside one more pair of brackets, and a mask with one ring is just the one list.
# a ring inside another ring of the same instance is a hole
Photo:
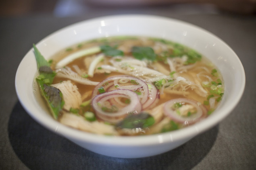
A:
{"label": "dark blurred background strip beyond the table's far edge", "polygon": [[255,0],[0,0],[0,16],[50,14],[68,17],[89,11],[120,10],[122,12],[164,8],[173,13],[239,13],[255,14]]}

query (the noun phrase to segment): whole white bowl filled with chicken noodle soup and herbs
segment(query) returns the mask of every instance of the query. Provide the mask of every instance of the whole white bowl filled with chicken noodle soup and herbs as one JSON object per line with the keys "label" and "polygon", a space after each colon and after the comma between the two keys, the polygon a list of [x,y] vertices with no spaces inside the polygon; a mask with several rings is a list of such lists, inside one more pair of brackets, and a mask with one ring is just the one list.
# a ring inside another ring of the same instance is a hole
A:
{"label": "whole white bowl filled with chicken noodle soup and herbs", "polygon": [[15,78],[35,121],[119,158],[161,154],[212,128],[235,108],[244,86],[241,61],[225,42],[150,15],[60,29],[31,45]]}

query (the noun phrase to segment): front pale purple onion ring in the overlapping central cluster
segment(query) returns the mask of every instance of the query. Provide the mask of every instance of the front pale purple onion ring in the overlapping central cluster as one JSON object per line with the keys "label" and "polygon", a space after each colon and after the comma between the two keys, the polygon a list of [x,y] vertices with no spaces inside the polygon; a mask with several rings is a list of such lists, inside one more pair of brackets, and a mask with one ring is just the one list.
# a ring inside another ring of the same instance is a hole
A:
{"label": "front pale purple onion ring in the overlapping central cluster", "polygon": [[[111,103],[110,100],[118,97],[129,98],[131,102],[125,107],[119,107],[118,111],[113,113],[102,110],[102,106],[104,106],[105,102]],[[129,113],[136,114],[142,111],[142,104],[139,102],[138,95],[135,92],[126,89],[112,90],[95,96],[92,99],[92,107],[94,108],[97,117],[110,123],[120,121]]]}

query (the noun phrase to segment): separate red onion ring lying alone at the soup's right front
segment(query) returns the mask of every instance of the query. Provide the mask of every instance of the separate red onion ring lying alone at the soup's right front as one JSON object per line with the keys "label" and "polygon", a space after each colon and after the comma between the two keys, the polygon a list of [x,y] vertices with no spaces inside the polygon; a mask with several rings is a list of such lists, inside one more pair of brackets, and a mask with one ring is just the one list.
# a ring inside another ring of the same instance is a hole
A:
{"label": "separate red onion ring lying alone at the soup's right front", "polygon": [[[177,114],[177,112],[176,112],[177,110],[173,109],[173,105],[175,103],[190,104],[196,109],[197,112],[188,117],[185,117],[185,116],[183,117],[183,116]],[[200,104],[200,106],[199,106],[198,102],[196,102],[194,100],[189,100],[186,98],[177,98],[177,99],[169,100],[164,104],[164,114],[169,116],[174,121],[183,123],[184,125],[189,125],[192,123],[196,123],[197,121],[199,121],[202,117],[204,117],[206,115],[207,110],[206,110],[206,108],[204,108],[201,105],[202,104]]]}

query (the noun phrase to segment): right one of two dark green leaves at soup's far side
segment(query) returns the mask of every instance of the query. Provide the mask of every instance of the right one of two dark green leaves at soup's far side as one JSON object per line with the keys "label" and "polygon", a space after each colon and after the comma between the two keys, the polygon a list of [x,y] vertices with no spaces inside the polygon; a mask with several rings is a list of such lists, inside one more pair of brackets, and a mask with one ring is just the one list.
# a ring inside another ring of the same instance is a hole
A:
{"label": "right one of two dark green leaves at soup's far side", "polygon": [[151,47],[133,47],[131,51],[136,59],[148,59],[151,61],[156,60],[157,55],[155,54],[154,50]]}

